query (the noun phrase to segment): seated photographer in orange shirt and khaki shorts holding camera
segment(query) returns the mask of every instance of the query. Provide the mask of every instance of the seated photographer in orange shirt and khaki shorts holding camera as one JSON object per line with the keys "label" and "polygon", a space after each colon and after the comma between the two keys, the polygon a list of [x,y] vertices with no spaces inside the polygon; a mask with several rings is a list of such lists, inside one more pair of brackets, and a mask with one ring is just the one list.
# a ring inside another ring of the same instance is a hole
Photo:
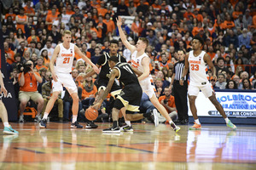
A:
{"label": "seated photographer in orange shirt and khaki shorts holding camera", "polygon": [[38,115],[35,121],[40,121],[40,113],[44,106],[44,99],[41,94],[38,93],[38,82],[42,82],[38,72],[33,71],[32,60],[26,61],[26,63],[20,66],[19,83],[20,83],[20,120],[19,122],[24,122],[23,112],[26,108],[27,102],[32,99],[38,104]]}

